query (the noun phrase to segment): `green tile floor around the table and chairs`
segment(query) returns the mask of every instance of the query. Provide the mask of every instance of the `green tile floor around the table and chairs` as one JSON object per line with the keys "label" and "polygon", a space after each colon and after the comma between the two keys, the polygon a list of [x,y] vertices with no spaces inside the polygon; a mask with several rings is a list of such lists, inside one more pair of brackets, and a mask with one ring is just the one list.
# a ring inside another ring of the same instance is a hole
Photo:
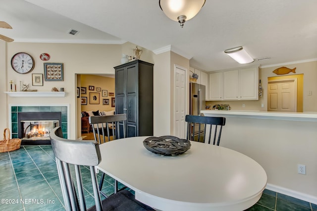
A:
{"label": "green tile floor around the table and chairs", "polygon": [[[82,167],[81,171],[90,207],[94,198],[89,169]],[[100,179],[101,172],[97,177]],[[106,176],[103,192],[112,194],[113,184],[114,180]],[[0,153],[0,199],[0,211],[65,210],[51,145],[21,146]],[[259,202],[247,211],[317,211],[317,205],[265,189]]]}

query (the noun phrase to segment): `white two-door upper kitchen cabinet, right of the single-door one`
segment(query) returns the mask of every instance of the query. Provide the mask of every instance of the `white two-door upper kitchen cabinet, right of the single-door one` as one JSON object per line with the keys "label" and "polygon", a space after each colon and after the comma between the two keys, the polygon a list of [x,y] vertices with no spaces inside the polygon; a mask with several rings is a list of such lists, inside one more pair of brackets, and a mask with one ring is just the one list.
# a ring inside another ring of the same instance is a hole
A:
{"label": "white two-door upper kitchen cabinet, right of the single-door one", "polygon": [[223,72],[224,100],[257,100],[258,68]]}

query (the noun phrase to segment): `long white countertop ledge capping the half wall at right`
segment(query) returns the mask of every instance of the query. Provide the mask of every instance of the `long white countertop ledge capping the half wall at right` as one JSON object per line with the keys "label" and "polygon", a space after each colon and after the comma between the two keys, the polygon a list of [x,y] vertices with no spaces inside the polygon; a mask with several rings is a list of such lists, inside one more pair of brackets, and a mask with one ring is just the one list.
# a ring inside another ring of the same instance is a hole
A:
{"label": "long white countertop ledge capping the half wall at right", "polygon": [[257,119],[276,119],[291,121],[317,122],[317,112],[268,112],[254,110],[202,110],[205,116],[230,116]]}

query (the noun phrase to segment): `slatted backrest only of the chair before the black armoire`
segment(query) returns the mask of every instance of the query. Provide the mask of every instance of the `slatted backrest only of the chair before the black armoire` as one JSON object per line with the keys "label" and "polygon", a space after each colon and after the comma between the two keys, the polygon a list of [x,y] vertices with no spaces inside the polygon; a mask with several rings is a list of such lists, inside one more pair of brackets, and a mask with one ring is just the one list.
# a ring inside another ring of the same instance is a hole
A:
{"label": "slatted backrest only of the chair before the black armoire", "polygon": [[[91,124],[95,136],[95,140],[99,144],[105,143],[106,141],[125,138],[125,122],[127,120],[126,114],[115,114],[108,116],[92,116],[89,117],[89,123]],[[123,137],[120,136],[119,124],[123,125]],[[107,137],[107,140],[106,140]]]}

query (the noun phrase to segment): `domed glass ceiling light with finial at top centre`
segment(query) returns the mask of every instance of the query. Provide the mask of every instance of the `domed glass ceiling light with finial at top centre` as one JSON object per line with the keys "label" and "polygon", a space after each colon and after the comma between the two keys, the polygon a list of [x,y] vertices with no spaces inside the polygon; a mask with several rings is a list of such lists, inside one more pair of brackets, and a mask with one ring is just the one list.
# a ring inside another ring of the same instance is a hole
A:
{"label": "domed glass ceiling light with finial at top centre", "polygon": [[178,21],[183,28],[204,6],[206,0],[159,0],[159,7],[167,17]]}

